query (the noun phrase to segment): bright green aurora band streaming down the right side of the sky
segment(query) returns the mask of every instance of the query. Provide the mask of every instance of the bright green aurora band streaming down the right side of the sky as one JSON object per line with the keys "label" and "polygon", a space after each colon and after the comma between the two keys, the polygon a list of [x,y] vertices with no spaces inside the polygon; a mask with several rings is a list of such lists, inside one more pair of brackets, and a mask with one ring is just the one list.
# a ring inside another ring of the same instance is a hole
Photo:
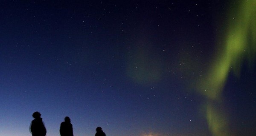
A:
{"label": "bright green aurora band streaming down the right side of the sky", "polygon": [[253,65],[256,55],[256,0],[237,1],[228,13],[223,47],[209,65],[206,77],[198,82],[198,92],[206,98],[206,119],[212,136],[231,136],[227,112],[221,97],[228,74],[237,77],[245,61]]}

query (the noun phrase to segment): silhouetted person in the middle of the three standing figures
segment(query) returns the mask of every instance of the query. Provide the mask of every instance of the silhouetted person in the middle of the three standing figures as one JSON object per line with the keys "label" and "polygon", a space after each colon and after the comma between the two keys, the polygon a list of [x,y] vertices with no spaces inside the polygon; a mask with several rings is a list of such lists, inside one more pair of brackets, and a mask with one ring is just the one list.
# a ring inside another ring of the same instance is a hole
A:
{"label": "silhouetted person in the middle of the three standing figures", "polygon": [[74,136],[73,135],[73,126],[71,124],[70,118],[65,117],[64,122],[61,122],[60,134],[61,136]]}

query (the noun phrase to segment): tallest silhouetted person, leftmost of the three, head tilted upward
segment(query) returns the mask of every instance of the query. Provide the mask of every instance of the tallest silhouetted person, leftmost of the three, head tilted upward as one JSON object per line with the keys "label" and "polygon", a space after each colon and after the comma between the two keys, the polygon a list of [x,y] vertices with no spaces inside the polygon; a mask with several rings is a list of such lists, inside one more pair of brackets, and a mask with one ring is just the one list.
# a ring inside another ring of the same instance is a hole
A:
{"label": "tallest silhouetted person, leftmost of the three, head tilted upward", "polygon": [[32,120],[30,131],[32,136],[45,136],[46,128],[44,127],[43,119],[41,118],[41,114],[36,111],[32,115],[35,119]]}

